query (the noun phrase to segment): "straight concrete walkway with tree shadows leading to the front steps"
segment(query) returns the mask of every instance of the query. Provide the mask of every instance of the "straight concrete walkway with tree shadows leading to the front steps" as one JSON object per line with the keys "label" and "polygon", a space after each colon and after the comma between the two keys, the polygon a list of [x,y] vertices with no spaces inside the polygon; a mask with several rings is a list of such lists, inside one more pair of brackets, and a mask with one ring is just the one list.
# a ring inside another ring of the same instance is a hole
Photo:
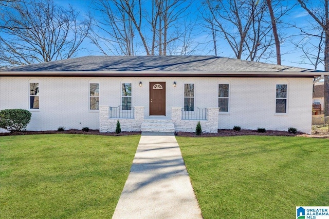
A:
{"label": "straight concrete walkway with tree shadows leading to the front steps", "polygon": [[112,218],[203,218],[173,133],[142,133]]}

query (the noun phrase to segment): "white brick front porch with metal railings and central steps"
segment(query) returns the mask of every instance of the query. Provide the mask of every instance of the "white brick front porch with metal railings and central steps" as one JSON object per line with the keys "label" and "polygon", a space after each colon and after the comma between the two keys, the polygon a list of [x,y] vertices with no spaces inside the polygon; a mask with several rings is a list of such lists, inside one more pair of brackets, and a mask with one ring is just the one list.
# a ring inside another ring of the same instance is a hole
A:
{"label": "white brick front porch with metal railings and central steps", "polygon": [[200,121],[203,132],[216,133],[218,130],[218,108],[183,111],[181,107],[171,108],[167,116],[145,116],[144,107],[122,110],[119,107],[99,106],[99,131],[114,132],[117,121],[122,131],[194,132]]}

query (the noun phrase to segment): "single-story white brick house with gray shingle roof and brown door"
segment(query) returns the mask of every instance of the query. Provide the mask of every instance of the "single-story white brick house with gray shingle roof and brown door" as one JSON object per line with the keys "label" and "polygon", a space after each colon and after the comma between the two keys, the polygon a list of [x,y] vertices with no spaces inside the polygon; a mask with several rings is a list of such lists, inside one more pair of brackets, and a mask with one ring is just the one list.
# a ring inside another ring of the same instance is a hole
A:
{"label": "single-story white brick house with gray shingle roof and brown door", "polygon": [[287,130],[310,133],[313,79],[327,72],[218,56],[86,56],[0,69],[0,109],[27,130]]}

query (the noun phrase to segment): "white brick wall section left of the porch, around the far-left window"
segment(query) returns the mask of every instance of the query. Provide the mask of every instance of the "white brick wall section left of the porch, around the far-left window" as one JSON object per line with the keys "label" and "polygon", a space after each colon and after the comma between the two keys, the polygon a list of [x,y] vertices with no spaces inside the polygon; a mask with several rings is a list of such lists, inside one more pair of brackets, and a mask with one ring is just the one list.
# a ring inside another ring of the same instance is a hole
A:
{"label": "white brick wall section left of the porch, around the far-left window", "polygon": [[[40,109],[29,109],[29,81],[39,83]],[[90,78],[89,78],[90,79]],[[1,77],[0,108],[30,110],[27,130],[98,129],[98,111],[89,111],[87,78]]]}

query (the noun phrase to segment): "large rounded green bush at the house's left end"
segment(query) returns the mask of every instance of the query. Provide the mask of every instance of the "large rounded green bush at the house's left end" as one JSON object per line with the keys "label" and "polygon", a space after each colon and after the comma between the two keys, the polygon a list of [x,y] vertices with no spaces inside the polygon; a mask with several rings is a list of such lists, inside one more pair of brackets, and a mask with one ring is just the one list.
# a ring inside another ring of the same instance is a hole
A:
{"label": "large rounded green bush at the house's left end", "polygon": [[0,111],[0,127],[8,131],[23,131],[31,121],[31,112],[24,109],[4,109]]}

